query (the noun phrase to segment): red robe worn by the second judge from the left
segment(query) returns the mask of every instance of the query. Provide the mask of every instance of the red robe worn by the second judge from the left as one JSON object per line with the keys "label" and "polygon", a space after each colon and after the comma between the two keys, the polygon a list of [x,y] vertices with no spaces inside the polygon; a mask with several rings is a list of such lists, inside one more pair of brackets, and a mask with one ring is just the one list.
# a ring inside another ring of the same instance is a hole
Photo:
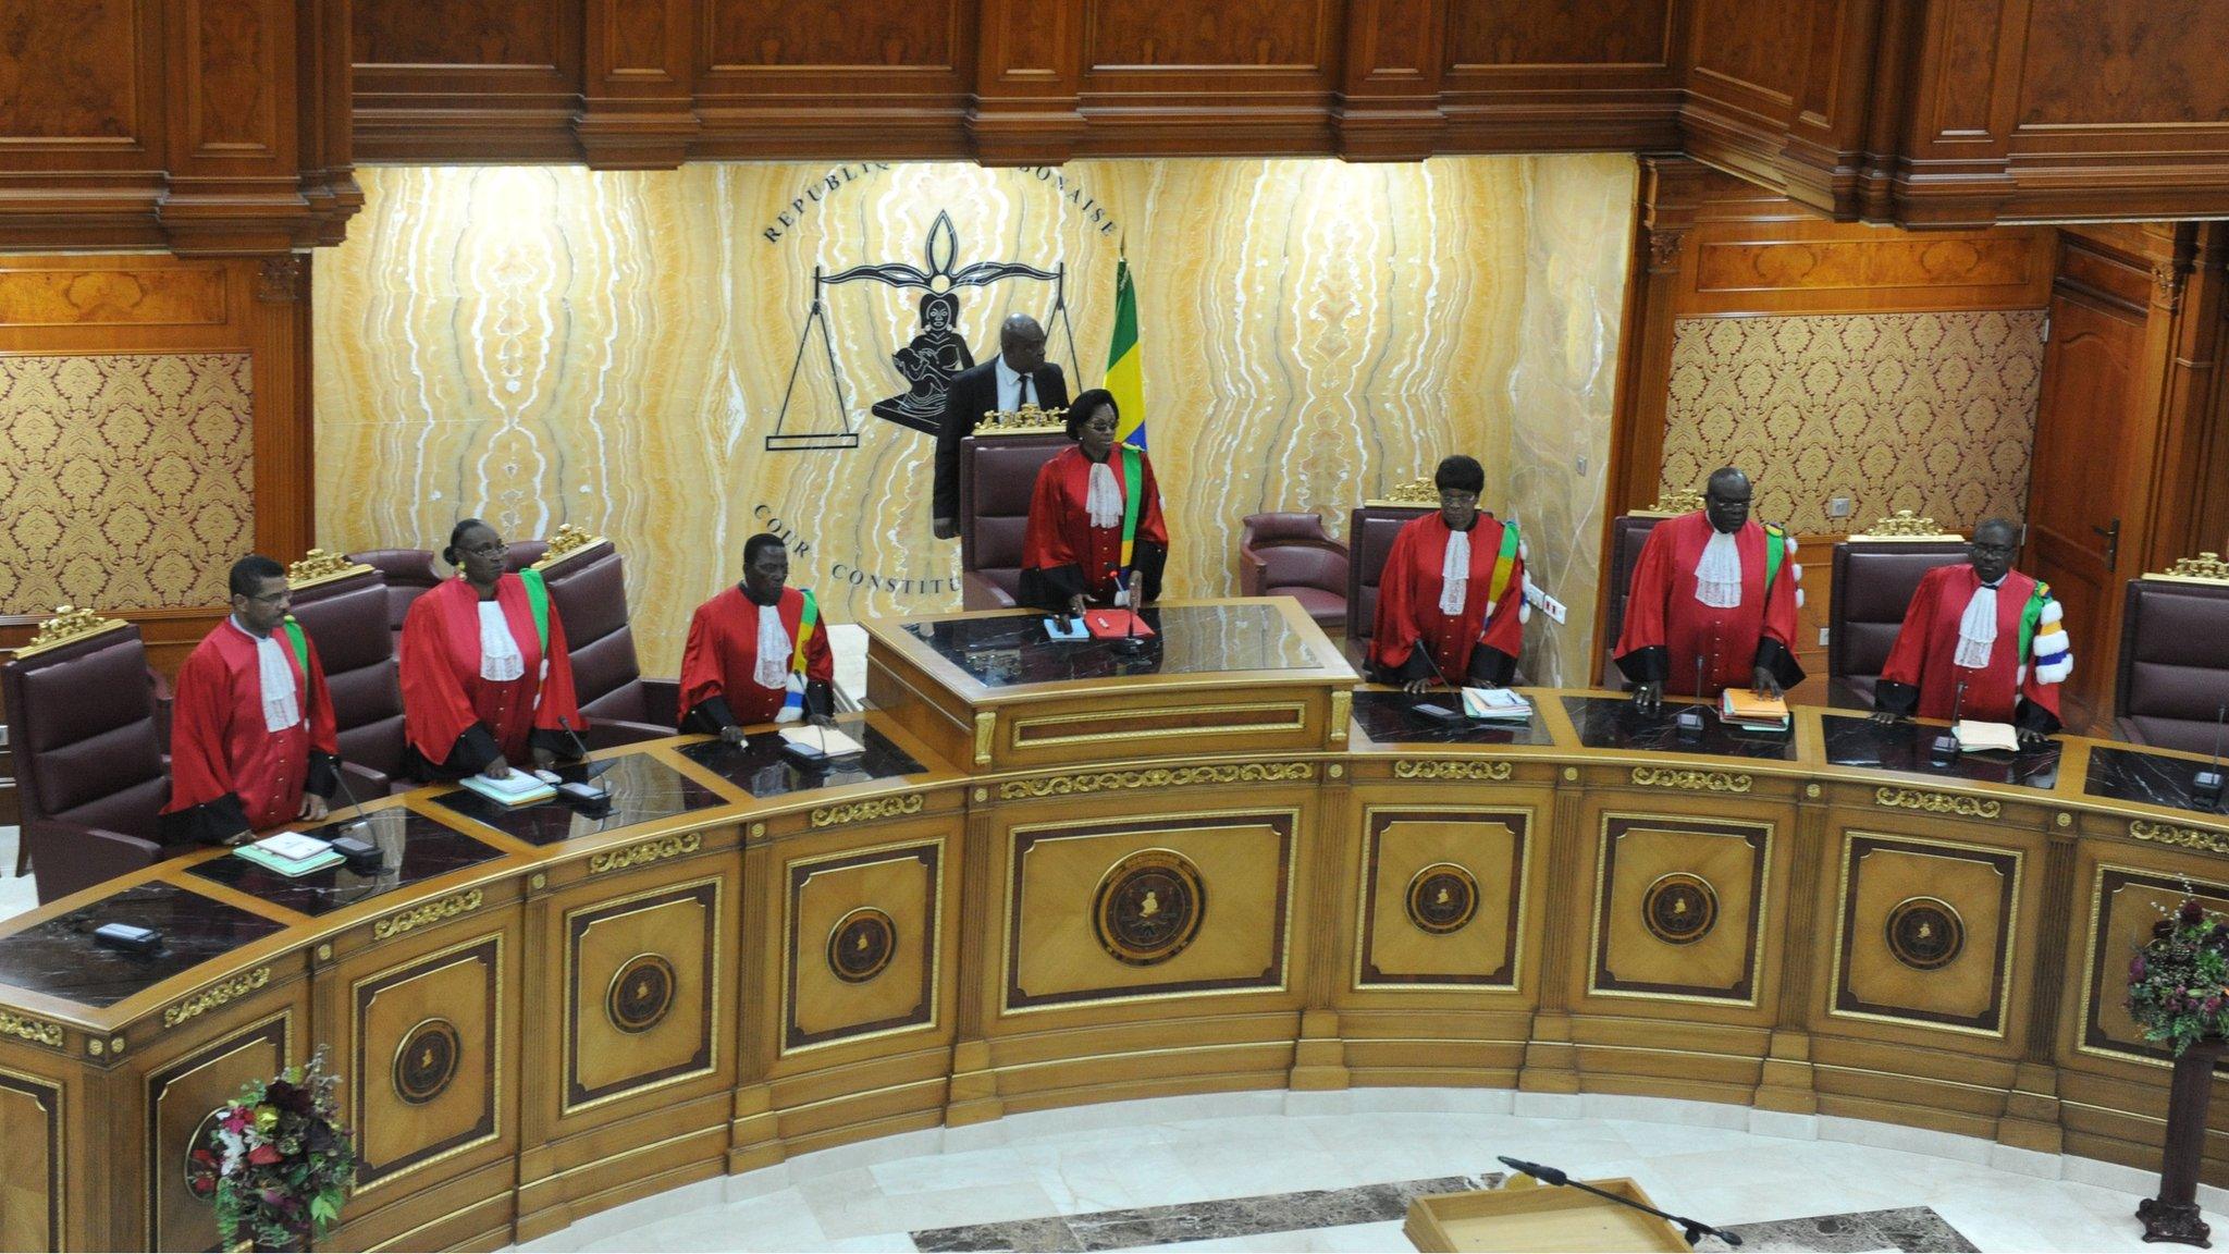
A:
{"label": "red robe worn by the second judge from the left", "polygon": [[410,614],[403,616],[403,734],[426,765],[444,774],[477,774],[497,754],[510,765],[531,765],[535,747],[573,756],[573,736],[559,721],[575,732],[586,730],[580,698],[573,696],[573,658],[566,654],[557,607],[551,607],[544,676],[526,585],[506,573],[495,585],[495,600],[504,607],[510,638],[526,665],[513,681],[479,678],[479,594],[464,576],[444,580],[410,602]]}

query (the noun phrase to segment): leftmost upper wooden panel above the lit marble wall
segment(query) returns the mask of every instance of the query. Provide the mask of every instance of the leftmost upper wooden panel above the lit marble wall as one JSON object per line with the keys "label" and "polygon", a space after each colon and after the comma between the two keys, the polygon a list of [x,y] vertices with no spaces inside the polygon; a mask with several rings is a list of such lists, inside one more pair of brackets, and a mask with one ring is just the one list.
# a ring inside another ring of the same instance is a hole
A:
{"label": "leftmost upper wooden panel above the lit marble wall", "polygon": [[582,0],[354,0],[366,161],[577,161]]}

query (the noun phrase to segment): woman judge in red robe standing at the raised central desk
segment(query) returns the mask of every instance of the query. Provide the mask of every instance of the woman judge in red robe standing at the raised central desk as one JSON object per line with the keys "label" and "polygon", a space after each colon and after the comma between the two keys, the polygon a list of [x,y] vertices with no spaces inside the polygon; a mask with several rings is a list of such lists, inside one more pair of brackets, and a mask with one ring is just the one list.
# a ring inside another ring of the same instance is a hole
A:
{"label": "woman judge in red robe standing at the raised central desk", "polygon": [[[1030,524],[1021,538],[1021,600],[1052,614],[1083,614],[1088,605],[1123,605],[1132,582],[1139,605],[1159,600],[1168,565],[1168,527],[1152,462],[1137,448],[1114,446],[1117,408],[1106,388],[1092,388],[1068,408],[1068,437],[1036,471]],[[1130,560],[1121,536],[1128,515],[1130,466],[1137,466],[1137,533]]]}

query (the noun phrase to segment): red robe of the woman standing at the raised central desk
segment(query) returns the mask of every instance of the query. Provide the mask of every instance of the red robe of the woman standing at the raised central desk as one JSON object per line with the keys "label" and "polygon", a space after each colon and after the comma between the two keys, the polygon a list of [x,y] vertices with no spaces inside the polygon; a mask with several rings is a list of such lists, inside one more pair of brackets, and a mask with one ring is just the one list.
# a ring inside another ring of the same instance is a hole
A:
{"label": "red robe of the woman standing at the raised central desk", "polygon": [[[1114,489],[1128,491],[1123,453],[1108,455]],[[1146,482],[1137,502],[1137,542],[1130,565],[1146,580],[1146,600],[1161,596],[1161,569],[1168,565],[1168,527],[1161,522],[1161,486],[1152,478],[1152,457],[1139,455]],[[1054,614],[1068,611],[1068,598],[1083,594],[1112,602],[1121,573],[1121,524],[1092,527],[1083,502],[1090,495],[1092,462],[1070,444],[1036,471],[1036,493],[1030,495],[1030,524],[1021,538],[1021,600]]]}

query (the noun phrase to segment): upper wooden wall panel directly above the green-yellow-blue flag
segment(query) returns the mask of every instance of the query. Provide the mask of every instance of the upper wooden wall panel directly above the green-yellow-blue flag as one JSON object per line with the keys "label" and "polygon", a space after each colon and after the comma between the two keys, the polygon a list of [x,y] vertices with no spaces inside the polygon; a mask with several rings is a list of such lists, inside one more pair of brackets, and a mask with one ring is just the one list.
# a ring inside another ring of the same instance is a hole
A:
{"label": "upper wooden wall panel directly above the green-yellow-blue flag", "polygon": [[1248,0],[1170,22],[1159,0],[1083,11],[1086,152],[1328,152],[1342,4]]}

